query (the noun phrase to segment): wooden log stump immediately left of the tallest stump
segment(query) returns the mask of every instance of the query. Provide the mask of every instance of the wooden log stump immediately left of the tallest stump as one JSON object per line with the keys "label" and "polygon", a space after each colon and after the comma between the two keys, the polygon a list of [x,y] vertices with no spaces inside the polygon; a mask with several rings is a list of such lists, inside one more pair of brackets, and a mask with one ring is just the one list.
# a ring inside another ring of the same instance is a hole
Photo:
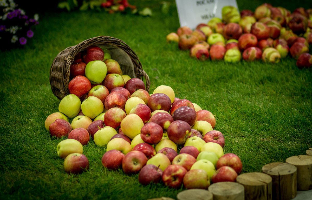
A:
{"label": "wooden log stump immediately left of the tallest stump", "polygon": [[272,200],[272,178],[268,174],[251,172],[240,174],[236,182],[245,188],[245,200]]}

